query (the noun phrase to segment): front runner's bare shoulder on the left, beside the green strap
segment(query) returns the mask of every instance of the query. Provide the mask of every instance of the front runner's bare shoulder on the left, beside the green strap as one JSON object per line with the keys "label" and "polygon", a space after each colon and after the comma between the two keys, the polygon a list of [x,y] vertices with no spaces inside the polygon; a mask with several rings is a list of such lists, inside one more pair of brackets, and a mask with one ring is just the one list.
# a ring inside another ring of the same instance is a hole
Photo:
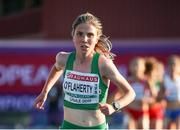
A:
{"label": "front runner's bare shoulder on the left, beside the green strap", "polygon": [[56,63],[55,63],[57,69],[64,69],[69,54],[70,52],[63,52],[63,51],[57,53]]}

